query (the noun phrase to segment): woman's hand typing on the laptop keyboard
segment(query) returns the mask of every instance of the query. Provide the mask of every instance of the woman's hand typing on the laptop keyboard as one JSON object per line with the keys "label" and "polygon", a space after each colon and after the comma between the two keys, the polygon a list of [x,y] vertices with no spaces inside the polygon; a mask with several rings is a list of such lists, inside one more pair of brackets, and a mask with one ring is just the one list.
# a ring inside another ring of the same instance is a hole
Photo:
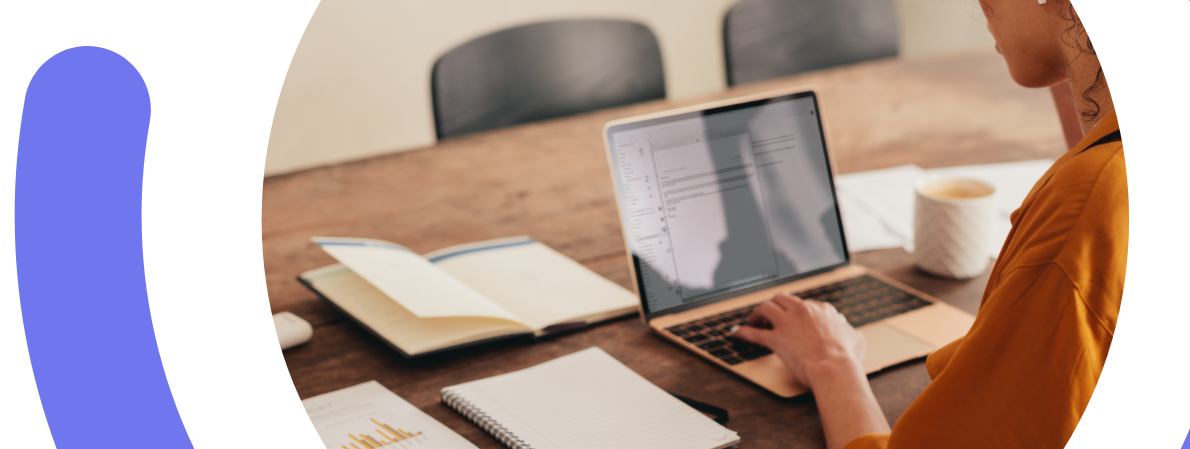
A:
{"label": "woman's hand typing on the laptop keyboard", "polygon": [[863,374],[864,335],[826,303],[777,294],[756,306],[749,325],[740,326],[735,337],[771,349],[812,391],[818,378],[840,369]]}

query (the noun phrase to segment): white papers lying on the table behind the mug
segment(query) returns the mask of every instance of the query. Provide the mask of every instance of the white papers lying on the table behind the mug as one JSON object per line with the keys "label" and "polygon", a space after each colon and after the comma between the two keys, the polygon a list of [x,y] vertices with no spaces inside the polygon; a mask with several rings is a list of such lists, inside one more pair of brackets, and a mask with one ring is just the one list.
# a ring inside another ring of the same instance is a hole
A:
{"label": "white papers lying on the table behind the mug", "polygon": [[917,176],[945,174],[973,177],[996,187],[996,236],[988,254],[996,257],[1008,232],[1009,217],[1020,207],[1033,185],[1053,166],[1053,160],[959,166],[925,170],[901,166],[851,173],[835,177],[839,213],[852,252],[885,248],[913,251],[913,183]]}

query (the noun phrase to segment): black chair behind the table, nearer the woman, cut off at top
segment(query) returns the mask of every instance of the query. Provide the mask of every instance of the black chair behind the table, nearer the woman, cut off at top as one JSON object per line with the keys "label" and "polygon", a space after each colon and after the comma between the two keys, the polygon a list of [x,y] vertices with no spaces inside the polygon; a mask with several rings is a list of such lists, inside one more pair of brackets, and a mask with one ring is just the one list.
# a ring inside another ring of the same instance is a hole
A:
{"label": "black chair behind the table, nearer the woman, cut off at top", "polygon": [[896,56],[892,0],[743,0],[724,19],[727,85]]}

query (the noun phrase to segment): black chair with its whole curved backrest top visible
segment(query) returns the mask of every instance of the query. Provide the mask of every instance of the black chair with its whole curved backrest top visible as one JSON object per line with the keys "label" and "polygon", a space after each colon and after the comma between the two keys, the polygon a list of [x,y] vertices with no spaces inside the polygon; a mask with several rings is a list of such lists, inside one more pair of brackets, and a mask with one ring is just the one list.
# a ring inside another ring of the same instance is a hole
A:
{"label": "black chair with its whole curved backrest top visible", "polygon": [[657,38],[620,20],[497,31],[443,55],[431,77],[438,138],[665,98]]}

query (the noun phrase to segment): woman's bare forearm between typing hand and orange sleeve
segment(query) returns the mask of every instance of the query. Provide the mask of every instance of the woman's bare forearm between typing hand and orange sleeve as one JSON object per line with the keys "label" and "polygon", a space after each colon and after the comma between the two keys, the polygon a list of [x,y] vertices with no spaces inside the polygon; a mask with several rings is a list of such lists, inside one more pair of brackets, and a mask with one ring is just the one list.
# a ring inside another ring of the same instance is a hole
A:
{"label": "woman's bare forearm between typing hand and orange sleeve", "polygon": [[890,431],[863,366],[856,361],[816,367],[812,388],[828,449],[841,449],[862,435]]}

